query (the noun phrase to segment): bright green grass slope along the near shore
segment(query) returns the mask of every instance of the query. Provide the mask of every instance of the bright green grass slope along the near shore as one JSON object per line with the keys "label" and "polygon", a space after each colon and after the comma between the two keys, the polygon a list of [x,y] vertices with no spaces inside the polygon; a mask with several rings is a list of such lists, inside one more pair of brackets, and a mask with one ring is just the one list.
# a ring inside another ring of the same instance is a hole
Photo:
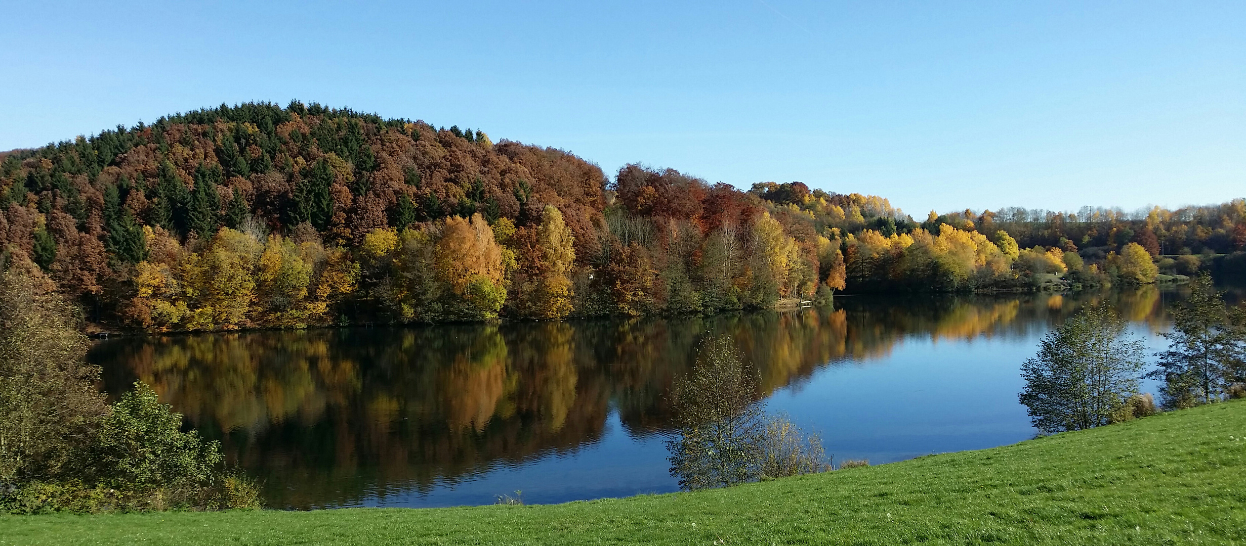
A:
{"label": "bright green grass slope along the near shore", "polygon": [[4,545],[1246,544],[1246,402],[731,489],[552,506],[0,516]]}

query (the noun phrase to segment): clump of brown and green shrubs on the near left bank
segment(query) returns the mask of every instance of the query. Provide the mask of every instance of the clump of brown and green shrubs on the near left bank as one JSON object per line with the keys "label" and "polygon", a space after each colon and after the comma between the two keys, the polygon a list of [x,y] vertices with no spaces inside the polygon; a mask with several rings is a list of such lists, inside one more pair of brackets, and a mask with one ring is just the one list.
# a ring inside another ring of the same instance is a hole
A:
{"label": "clump of brown and green shrubs on the near left bank", "polygon": [[41,275],[0,272],[0,511],[258,507],[258,488],[151,387],[105,404],[75,310]]}

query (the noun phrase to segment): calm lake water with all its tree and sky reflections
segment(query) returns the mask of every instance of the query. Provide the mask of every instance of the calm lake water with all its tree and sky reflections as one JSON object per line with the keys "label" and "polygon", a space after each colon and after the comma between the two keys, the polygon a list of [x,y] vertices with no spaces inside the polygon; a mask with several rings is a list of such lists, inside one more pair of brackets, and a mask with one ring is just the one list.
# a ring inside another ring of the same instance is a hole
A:
{"label": "calm lake water with all its tree and sky reflections", "polygon": [[[530,504],[678,489],[667,393],[730,335],[771,412],[836,460],[888,463],[1034,435],[1019,366],[1109,301],[1160,347],[1177,291],[841,296],[790,312],[116,338],[90,358],[142,379],[264,484],[270,507]],[[1153,386],[1149,386],[1153,388]]]}

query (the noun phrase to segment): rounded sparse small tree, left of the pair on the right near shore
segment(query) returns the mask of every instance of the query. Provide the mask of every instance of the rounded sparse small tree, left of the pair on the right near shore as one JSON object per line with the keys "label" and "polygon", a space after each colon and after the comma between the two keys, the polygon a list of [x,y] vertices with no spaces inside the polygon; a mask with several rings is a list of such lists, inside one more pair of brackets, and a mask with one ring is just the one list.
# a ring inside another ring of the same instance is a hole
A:
{"label": "rounded sparse small tree, left of the pair on the right near shore", "polygon": [[1125,333],[1125,321],[1108,306],[1087,307],[1039,342],[1022,364],[1022,404],[1044,433],[1108,424],[1138,393],[1145,366],[1143,342]]}

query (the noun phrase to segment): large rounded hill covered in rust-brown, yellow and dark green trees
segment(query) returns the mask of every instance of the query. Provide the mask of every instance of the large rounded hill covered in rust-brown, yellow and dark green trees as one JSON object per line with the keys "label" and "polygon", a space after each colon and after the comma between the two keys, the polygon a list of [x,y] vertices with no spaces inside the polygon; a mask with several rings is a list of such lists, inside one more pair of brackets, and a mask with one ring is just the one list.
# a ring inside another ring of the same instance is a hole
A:
{"label": "large rounded hill covered in rust-brown, yellow and dark green trees", "polygon": [[[711,312],[816,291],[761,203],[480,131],[222,104],[7,154],[0,245],[147,330]],[[723,264],[703,259],[724,225]]]}

